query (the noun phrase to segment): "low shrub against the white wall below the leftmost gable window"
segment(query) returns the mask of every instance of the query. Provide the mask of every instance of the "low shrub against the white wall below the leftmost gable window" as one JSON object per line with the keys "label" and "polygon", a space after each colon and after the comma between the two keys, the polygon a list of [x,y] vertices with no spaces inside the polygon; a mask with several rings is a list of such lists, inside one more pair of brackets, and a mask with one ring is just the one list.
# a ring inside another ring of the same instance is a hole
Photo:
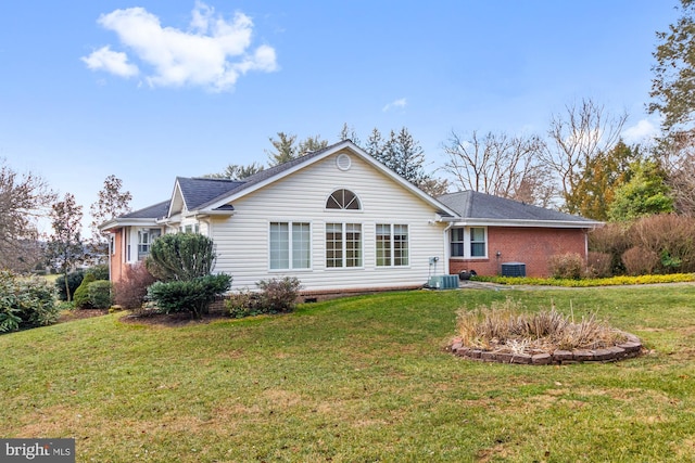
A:
{"label": "low shrub against the white wall below the leftmost gable window", "polygon": [[262,313],[282,313],[294,310],[302,284],[299,279],[262,280],[256,283],[258,293],[242,291],[232,294],[225,307],[232,318],[258,316]]}

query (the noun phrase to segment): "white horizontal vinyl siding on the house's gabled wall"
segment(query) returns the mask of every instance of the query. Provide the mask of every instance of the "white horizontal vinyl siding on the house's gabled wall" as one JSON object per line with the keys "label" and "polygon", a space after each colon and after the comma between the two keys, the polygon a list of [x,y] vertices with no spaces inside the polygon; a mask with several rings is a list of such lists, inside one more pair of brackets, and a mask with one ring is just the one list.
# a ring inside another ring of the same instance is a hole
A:
{"label": "white horizontal vinyl siding on the house's gabled wall", "polygon": [[[429,259],[444,259],[446,254],[446,223],[433,221],[438,209],[357,155],[350,153],[350,169],[340,170],[336,165],[338,154],[232,200],[233,216],[208,219],[210,236],[217,244],[214,271],[229,273],[232,290],[255,288],[257,281],[282,271],[296,275],[304,291],[402,287],[427,282]],[[343,189],[358,197],[359,209],[327,209],[330,195]],[[271,269],[269,223],[309,224],[305,230],[309,239],[302,241],[308,246],[303,254],[311,260],[308,268],[292,265],[291,269]],[[343,267],[329,267],[329,223],[359,226],[359,240],[353,236],[353,245],[344,246]],[[384,223],[407,226],[406,247],[400,250],[401,262],[407,265],[377,265],[376,230],[377,224]]]}

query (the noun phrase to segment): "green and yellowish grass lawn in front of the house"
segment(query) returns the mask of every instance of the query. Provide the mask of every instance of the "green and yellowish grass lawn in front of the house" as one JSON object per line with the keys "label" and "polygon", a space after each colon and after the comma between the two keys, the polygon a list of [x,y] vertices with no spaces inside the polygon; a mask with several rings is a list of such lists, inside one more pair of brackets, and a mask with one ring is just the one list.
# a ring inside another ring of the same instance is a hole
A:
{"label": "green and yellowish grass lawn in front of the house", "polygon": [[[456,310],[513,297],[650,349],[526,366],[446,353]],[[182,327],[119,314],[0,336],[0,437],[78,462],[695,461],[695,286],[390,293]]]}

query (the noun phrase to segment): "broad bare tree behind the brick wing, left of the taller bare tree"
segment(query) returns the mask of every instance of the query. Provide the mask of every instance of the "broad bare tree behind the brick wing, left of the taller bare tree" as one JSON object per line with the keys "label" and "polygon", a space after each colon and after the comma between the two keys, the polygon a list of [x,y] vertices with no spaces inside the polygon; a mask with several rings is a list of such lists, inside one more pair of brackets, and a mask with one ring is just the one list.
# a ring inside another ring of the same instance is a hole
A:
{"label": "broad bare tree behind the brick wing, left of the taller bare tree", "polygon": [[543,141],[535,136],[509,137],[473,131],[468,140],[452,131],[444,152],[448,156],[443,169],[462,190],[546,205],[549,202],[549,175],[539,155]]}

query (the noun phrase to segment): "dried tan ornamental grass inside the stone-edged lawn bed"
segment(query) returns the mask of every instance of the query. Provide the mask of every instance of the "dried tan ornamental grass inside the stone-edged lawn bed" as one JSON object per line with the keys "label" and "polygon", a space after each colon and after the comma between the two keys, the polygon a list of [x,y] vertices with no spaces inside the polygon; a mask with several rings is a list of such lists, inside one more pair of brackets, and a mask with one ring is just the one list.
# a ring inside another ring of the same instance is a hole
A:
{"label": "dried tan ornamental grass inside the stone-edged lawn bed", "polygon": [[576,322],[555,310],[525,313],[520,303],[507,298],[473,310],[458,310],[457,332],[464,346],[511,353],[552,353],[555,350],[602,349],[626,335],[592,314]]}

